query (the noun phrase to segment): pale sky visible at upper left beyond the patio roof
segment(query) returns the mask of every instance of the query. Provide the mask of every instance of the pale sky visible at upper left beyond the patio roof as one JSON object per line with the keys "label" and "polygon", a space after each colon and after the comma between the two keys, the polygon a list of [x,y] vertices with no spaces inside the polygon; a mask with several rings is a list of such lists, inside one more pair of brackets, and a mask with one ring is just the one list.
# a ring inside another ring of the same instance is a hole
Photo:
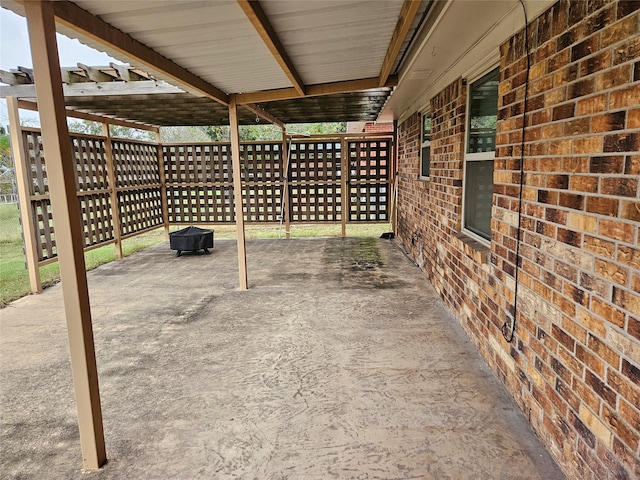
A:
{"label": "pale sky visible at upper left beyond the patio roof", "polygon": [[[58,55],[62,67],[75,67],[78,62],[92,66],[104,66],[109,65],[109,62],[117,62],[105,53],[60,34],[58,34]],[[17,69],[18,66],[33,67],[27,21],[20,15],[0,8],[0,69],[9,71]],[[21,110],[20,117],[28,121],[29,125],[38,124],[38,116],[34,112]],[[6,127],[8,123],[6,102],[0,99],[0,125]]]}

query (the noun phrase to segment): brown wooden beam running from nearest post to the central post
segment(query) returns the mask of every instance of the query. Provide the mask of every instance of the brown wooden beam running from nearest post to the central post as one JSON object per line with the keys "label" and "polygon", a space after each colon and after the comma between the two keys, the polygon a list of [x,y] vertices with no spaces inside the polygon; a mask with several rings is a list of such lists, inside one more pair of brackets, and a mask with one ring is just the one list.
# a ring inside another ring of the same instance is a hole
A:
{"label": "brown wooden beam running from nearest post to the central post", "polygon": [[[26,5],[28,2],[24,2]],[[113,48],[147,67],[190,87],[221,103],[229,104],[229,96],[189,70],[160,55],[158,52],[118,30],[107,22],[91,15],[75,3],[67,0],[52,2],[56,19],[82,35]]]}

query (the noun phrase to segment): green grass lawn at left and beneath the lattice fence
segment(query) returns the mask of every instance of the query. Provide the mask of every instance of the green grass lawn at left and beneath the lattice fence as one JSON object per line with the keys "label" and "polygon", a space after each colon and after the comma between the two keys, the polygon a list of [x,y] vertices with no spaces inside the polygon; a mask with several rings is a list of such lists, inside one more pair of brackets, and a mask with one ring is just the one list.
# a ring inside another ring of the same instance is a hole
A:
{"label": "green grass lawn at left and beneath the lattice fence", "polygon": [[[172,227],[178,230],[183,227]],[[205,227],[206,228],[206,227]],[[210,227],[209,227],[210,228]],[[235,238],[235,225],[219,225],[213,227],[215,238]],[[341,234],[340,225],[292,225],[292,237],[335,237]],[[390,231],[389,224],[347,225],[348,236],[378,237]],[[247,238],[284,237],[284,226],[278,225],[246,225]],[[164,229],[137,235],[122,242],[125,256],[144,250],[147,247],[164,242]],[[86,252],[84,255],[87,270],[91,270],[116,259],[115,247],[107,245]],[[58,263],[40,267],[42,285],[53,285],[60,278]],[[29,274],[27,273],[24,248],[22,244],[22,228],[16,205],[0,205],[0,308],[11,301],[29,293]]]}

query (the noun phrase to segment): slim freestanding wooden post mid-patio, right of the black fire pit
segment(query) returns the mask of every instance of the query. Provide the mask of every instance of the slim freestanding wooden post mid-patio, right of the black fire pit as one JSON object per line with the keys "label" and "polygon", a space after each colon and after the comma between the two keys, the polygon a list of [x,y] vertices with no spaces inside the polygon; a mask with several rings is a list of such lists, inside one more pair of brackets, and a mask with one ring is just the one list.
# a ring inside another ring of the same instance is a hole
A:
{"label": "slim freestanding wooden post mid-patio, right of the black fire pit", "polygon": [[242,198],[242,165],[240,163],[240,133],[238,132],[238,104],[236,96],[229,95],[229,130],[231,132],[231,161],[233,163],[233,197],[236,211],[238,244],[238,275],[240,290],[247,290],[247,251],[244,240],[244,208]]}

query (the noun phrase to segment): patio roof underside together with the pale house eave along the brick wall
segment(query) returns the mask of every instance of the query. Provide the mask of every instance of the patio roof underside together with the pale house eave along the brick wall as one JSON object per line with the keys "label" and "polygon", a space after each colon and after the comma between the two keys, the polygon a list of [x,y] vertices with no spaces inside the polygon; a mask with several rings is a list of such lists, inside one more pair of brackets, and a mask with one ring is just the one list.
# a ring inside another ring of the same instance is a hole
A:
{"label": "patio roof underside together with the pale house eave along the brick wall", "polygon": [[[524,2],[535,18],[552,0]],[[0,0],[20,15],[23,3]],[[282,123],[389,122],[456,70],[497,61],[505,31],[524,25],[518,0],[53,3],[58,32],[186,92],[67,96],[68,108],[151,125],[227,124],[230,96],[256,107],[238,111],[244,124],[257,111]]]}

